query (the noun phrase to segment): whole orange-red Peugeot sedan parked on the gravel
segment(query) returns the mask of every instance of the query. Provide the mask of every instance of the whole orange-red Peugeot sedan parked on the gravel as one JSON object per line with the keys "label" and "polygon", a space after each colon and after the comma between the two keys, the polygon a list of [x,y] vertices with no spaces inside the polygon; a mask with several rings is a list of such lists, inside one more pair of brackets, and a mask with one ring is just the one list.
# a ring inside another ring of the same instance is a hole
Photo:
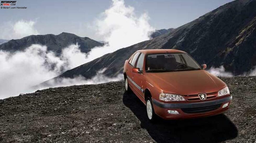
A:
{"label": "whole orange-red Peugeot sedan parked on the gravel", "polygon": [[146,105],[148,119],[211,116],[229,109],[232,96],[218,77],[186,52],[174,49],[136,51],[124,64],[125,90]]}

